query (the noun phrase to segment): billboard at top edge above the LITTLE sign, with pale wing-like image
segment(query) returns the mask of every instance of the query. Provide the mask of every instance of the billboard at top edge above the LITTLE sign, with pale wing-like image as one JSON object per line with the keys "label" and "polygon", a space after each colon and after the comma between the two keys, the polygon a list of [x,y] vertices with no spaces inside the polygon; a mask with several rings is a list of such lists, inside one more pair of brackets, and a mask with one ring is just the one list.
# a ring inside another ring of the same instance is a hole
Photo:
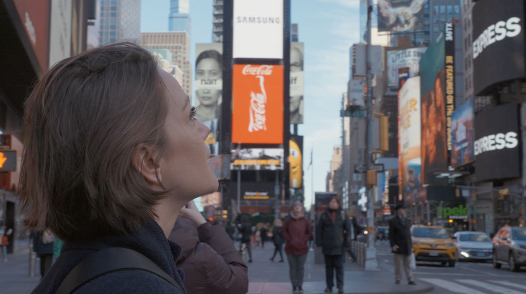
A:
{"label": "billboard at top edge above the LITTLE sign, with pale wing-like image", "polygon": [[426,0],[378,0],[378,31],[424,29]]}

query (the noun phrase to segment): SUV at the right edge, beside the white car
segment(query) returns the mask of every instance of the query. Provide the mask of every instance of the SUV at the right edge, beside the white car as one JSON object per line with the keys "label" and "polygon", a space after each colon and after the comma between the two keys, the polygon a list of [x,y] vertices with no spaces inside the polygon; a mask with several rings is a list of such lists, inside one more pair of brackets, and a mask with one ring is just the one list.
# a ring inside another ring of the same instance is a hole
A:
{"label": "SUV at the right edge, beside the white car", "polygon": [[493,237],[493,267],[509,265],[518,271],[526,266],[526,228],[505,226]]}

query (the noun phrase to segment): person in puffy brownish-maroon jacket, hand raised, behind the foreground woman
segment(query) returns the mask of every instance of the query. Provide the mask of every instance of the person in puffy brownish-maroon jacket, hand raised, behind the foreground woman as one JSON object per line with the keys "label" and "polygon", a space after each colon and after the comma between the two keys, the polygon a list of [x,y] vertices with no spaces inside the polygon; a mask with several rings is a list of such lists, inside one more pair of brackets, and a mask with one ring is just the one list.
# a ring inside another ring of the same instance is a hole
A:
{"label": "person in puffy brownish-maroon jacket, hand raised, behind the foreground woman", "polygon": [[211,226],[194,201],[181,209],[168,240],[182,247],[176,264],[185,272],[188,293],[244,294],[247,266],[220,225]]}

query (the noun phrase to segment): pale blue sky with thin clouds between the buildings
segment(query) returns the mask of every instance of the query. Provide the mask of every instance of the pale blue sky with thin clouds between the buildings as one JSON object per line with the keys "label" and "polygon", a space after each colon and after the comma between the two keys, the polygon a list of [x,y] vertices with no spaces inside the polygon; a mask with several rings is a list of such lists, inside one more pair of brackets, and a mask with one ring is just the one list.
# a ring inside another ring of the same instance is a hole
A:
{"label": "pale blue sky with thin clouds between the buildings", "polygon": [[[169,0],[143,0],[141,32],[168,31],[169,8]],[[195,44],[212,41],[212,8],[212,0],[190,0],[190,60],[195,60]],[[359,42],[359,0],[291,0],[291,10],[305,43],[304,124],[298,133],[304,135],[305,205],[310,207],[311,187],[325,192],[333,147],[341,145],[339,113],[349,80],[349,48]],[[307,170],[311,150],[313,167]]]}

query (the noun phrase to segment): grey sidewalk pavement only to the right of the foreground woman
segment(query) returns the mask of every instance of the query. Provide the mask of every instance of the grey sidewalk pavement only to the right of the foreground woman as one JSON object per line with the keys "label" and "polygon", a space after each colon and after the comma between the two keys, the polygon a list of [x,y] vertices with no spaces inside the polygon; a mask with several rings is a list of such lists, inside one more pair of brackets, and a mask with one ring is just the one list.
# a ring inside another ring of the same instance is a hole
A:
{"label": "grey sidewalk pavement only to the right of the foreground woman", "polygon": [[[285,252],[285,262],[276,262],[279,261],[279,254],[274,259],[274,262],[270,261],[269,258],[273,253],[274,244],[272,243],[266,243],[265,248],[252,248],[253,262],[248,264],[248,279],[250,281],[248,294],[292,293]],[[416,286],[407,285],[407,282],[396,285],[392,266],[379,259],[379,268],[378,271],[365,271],[358,267],[357,264],[347,260],[343,274],[343,290],[345,290],[345,293],[416,294],[429,293],[434,290],[432,285],[418,279],[416,280]],[[314,251],[309,251],[305,263],[304,294],[322,293],[325,288],[325,265],[315,264]],[[335,293],[337,292],[336,287],[333,287],[332,290]]]}

